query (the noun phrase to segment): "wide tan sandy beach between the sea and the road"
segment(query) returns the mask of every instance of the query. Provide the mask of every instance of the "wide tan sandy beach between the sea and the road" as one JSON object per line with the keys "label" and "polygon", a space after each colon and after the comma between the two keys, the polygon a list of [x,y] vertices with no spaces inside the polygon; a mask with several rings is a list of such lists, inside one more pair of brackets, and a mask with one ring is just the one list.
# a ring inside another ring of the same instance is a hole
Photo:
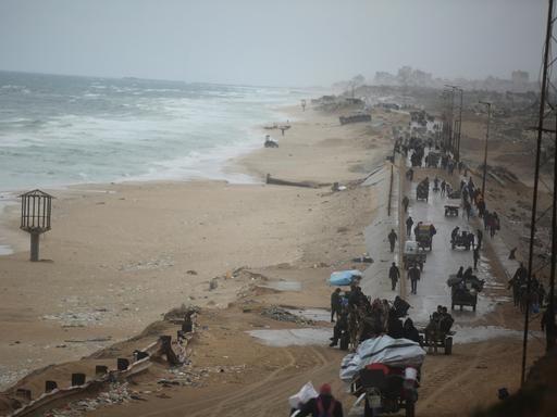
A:
{"label": "wide tan sandy beach between the sea and the road", "polygon": [[[256,151],[230,169],[345,182],[363,177],[391,147],[387,124],[372,131],[313,111],[289,112],[299,122],[278,138],[280,149]],[[246,282],[223,280],[209,291],[209,281],[237,267],[289,264],[301,278],[296,268],[363,252],[372,190],[357,190],[349,201],[324,198],[329,191],[218,181],[55,191],[52,230],[40,247],[45,262],[29,263],[26,251],[0,256],[0,383],[136,334],[172,306],[225,307]],[[3,222],[20,250],[28,237],[17,231],[17,215],[13,207]]]}

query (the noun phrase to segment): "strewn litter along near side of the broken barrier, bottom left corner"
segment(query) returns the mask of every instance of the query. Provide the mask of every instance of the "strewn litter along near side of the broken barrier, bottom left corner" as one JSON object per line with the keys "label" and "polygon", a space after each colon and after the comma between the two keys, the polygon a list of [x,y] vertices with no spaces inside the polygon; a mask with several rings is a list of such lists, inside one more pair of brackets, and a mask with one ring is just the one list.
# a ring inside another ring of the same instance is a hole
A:
{"label": "strewn litter along near side of the broken barrier, bottom left corner", "polygon": [[129,390],[128,383],[112,383],[110,390],[101,392],[95,399],[84,399],[67,403],[63,408],[53,408],[42,414],[42,417],[78,417],[85,412],[113,404],[128,403],[141,400],[138,393]]}

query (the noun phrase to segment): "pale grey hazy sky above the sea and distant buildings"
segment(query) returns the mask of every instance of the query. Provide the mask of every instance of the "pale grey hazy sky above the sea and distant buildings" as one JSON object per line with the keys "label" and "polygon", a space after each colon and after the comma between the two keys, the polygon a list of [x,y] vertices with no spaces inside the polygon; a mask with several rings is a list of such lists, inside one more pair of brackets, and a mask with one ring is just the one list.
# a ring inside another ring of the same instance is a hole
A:
{"label": "pale grey hazy sky above the sea and distant buildings", "polygon": [[0,70],[330,85],[539,76],[546,0],[0,0]]}

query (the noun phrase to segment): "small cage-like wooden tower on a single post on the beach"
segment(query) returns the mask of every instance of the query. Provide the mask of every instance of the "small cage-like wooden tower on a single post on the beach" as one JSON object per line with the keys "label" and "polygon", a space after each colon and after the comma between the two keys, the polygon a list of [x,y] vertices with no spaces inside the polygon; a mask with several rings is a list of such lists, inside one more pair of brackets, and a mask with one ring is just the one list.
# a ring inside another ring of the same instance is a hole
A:
{"label": "small cage-like wooden tower on a single post on the beach", "polygon": [[22,224],[20,228],[30,233],[30,261],[39,260],[39,236],[50,230],[53,197],[41,190],[21,194]]}

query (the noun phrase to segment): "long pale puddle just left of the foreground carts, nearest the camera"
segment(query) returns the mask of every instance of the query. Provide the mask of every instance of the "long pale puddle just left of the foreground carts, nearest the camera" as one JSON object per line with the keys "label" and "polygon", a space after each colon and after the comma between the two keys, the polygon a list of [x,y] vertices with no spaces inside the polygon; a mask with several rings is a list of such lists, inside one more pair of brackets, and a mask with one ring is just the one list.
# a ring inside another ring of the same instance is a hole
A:
{"label": "long pale puddle just left of the foreground carts, nearest the camera", "polygon": [[248,333],[261,344],[274,348],[307,346],[317,344],[325,346],[333,336],[332,329],[281,329],[281,330],[251,330]]}

